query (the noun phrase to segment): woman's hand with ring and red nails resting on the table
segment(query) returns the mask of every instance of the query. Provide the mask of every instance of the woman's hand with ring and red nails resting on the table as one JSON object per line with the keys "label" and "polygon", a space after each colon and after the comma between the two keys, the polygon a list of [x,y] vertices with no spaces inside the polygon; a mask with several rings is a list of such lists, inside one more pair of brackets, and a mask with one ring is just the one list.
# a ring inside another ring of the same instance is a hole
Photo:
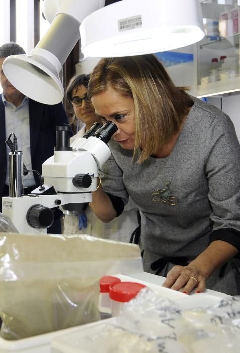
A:
{"label": "woman's hand with ring and red nails resting on the table", "polygon": [[201,293],[206,289],[206,279],[197,269],[192,266],[174,266],[163,283],[163,287],[171,288],[189,294],[194,290]]}

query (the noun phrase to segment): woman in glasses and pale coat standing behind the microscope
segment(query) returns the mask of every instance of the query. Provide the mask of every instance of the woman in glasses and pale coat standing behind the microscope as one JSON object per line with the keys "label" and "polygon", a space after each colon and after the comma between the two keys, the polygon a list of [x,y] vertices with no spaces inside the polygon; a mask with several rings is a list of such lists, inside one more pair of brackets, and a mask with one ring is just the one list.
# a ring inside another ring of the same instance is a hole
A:
{"label": "woman in glasses and pale coat standing behind the microscope", "polygon": [[[76,138],[82,137],[95,122],[102,124],[102,119],[96,115],[91,99],[87,95],[89,78],[90,75],[75,75],[71,78],[66,89],[66,96],[75,119],[84,123],[77,134],[70,138],[71,144]],[[84,203],[83,210],[78,217],[64,215],[64,234],[89,234],[94,237],[129,242],[131,233],[138,225],[137,216],[137,207],[129,199],[124,212],[106,224],[92,212],[88,203]]]}

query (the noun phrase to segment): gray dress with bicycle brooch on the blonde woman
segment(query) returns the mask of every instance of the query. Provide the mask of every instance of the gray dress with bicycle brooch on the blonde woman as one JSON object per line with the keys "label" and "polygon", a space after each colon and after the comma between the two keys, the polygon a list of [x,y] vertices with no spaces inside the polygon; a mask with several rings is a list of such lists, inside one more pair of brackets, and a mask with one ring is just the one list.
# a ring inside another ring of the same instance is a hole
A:
{"label": "gray dress with bicycle brooch on the blonde woman", "polygon": [[[104,190],[125,204],[130,195],[141,211],[143,266],[150,273],[159,258],[193,260],[207,248],[213,230],[240,231],[240,146],[233,123],[215,106],[193,99],[168,157],[149,157],[139,165],[132,151],[111,140],[112,156],[103,167]],[[168,262],[159,274],[173,266]],[[229,261],[224,276],[215,271],[207,288],[236,295],[239,268],[238,259]]]}

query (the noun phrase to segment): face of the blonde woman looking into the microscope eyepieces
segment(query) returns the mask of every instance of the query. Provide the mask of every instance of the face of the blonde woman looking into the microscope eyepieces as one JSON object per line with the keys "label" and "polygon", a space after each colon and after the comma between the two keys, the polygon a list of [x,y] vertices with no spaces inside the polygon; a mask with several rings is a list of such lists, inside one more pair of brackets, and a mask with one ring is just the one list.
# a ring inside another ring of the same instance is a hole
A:
{"label": "face of the blonde woman looking into the microscope eyepieces", "polygon": [[132,98],[124,97],[112,88],[92,97],[92,103],[103,123],[114,122],[118,130],[113,139],[126,150],[134,149],[135,114]]}

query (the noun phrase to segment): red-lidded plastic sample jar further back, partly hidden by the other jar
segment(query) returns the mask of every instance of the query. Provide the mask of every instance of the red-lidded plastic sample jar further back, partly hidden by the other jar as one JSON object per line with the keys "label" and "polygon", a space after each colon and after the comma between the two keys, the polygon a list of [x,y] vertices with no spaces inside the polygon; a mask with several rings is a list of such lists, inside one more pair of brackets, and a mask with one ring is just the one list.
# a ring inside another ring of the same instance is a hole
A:
{"label": "red-lidded plastic sample jar further back, partly hidden by the other jar", "polygon": [[[109,317],[109,315],[104,315],[106,314],[111,314],[111,300],[109,298],[109,286],[111,284],[119,283],[121,282],[121,279],[118,277],[114,276],[103,276],[99,280],[99,287],[100,287],[100,296],[99,296],[99,311],[103,315],[101,317]],[[111,315],[110,315],[111,316]]]}

